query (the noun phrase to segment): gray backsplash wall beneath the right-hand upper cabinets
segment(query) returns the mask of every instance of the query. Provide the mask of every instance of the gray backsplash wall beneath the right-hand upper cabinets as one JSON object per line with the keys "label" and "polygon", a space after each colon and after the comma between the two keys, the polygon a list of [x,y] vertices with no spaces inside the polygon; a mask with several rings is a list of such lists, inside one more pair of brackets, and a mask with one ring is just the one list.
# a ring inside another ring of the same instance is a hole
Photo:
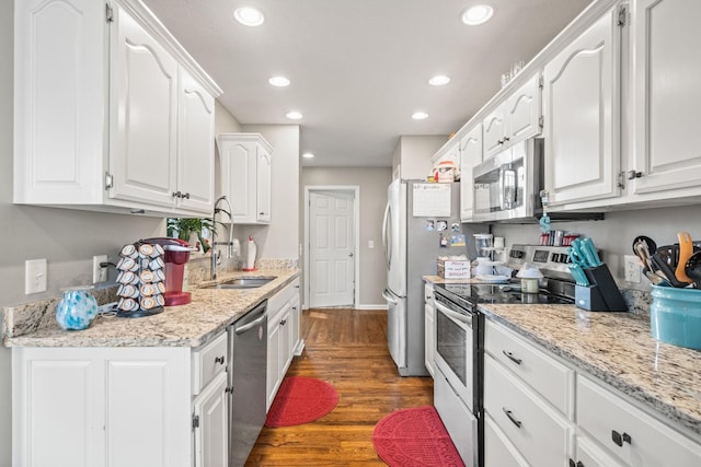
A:
{"label": "gray backsplash wall beneath the right-hand upper cabinets", "polygon": [[[657,245],[677,242],[677,232],[687,231],[692,238],[701,240],[701,208],[696,206],[678,208],[639,209],[622,212],[608,212],[604,221],[555,222],[553,229],[577,232],[594,240],[602,250],[602,260],[608,265],[617,280],[622,281],[623,255],[632,255],[633,238],[647,235]],[[533,225],[492,226],[496,236],[504,236],[507,245],[514,243],[538,244],[540,230]],[[619,282],[628,289],[650,290],[650,282],[643,277],[640,284]]]}

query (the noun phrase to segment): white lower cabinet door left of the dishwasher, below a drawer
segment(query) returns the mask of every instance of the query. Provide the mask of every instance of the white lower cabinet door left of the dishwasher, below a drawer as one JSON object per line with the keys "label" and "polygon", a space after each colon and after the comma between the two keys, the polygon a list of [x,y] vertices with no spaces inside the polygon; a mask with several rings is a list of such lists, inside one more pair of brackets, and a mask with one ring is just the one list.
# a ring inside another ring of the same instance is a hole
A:
{"label": "white lower cabinet door left of the dishwasher, below a drawer", "polygon": [[228,467],[229,394],[226,373],[219,374],[195,399],[193,411],[195,467]]}

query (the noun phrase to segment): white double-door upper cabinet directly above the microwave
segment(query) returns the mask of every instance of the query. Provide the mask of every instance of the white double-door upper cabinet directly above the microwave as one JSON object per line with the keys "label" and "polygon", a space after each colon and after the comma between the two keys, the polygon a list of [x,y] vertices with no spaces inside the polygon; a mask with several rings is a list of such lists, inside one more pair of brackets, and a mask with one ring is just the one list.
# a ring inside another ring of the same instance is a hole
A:
{"label": "white double-door upper cabinet directly above the microwave", "polygon": [[535,74],[483,120],[484,159],[540,133],[540,74]]}

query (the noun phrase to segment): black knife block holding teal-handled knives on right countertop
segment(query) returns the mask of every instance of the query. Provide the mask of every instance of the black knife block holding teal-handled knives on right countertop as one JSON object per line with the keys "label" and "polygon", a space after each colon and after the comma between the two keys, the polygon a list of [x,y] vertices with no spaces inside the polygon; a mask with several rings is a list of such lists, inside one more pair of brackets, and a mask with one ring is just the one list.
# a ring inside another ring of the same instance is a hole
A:
{"label": "black knife block holding teal-handled knives on right countertop", "polygon": [[583,268],[589,285],[575,285],[575,305],[590,312],[627,312],[628,305],[608,266]]}

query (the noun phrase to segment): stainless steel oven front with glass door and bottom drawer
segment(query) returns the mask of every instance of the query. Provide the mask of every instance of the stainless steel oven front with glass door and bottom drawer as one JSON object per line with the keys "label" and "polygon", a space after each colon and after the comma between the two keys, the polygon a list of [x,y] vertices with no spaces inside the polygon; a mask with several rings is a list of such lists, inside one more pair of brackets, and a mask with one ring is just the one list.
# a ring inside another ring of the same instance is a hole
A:
{"label": "stainless steel oven front with glass door and bottom drawer", "polygon": [[435,289],[434,406],[467,467],[481,465],[482,324],[476,306]]}

